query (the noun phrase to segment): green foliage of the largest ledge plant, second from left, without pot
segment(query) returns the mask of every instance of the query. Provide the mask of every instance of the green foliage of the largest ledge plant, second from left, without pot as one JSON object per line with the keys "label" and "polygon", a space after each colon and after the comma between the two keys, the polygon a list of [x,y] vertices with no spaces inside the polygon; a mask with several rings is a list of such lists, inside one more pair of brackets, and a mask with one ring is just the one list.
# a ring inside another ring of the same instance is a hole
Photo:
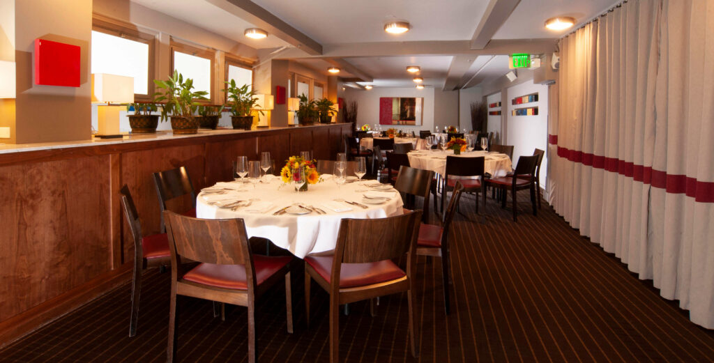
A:
{"label": "green foliage of the largest ledge plant, second from left, without pot", "polygon": [[169,116],[191,117],[200,105],[195,100],[208,99],[206,98],[208,92],[192,91],[193,80],[186,78],[184,81],[183,76],[178,71],[174,71],[174,75],[166,81],[155,79],[154,84],[157,88],[164,90],[154,93],[154,101],[166,101],[164,107],[161,108],[161,121],[165,121]]}

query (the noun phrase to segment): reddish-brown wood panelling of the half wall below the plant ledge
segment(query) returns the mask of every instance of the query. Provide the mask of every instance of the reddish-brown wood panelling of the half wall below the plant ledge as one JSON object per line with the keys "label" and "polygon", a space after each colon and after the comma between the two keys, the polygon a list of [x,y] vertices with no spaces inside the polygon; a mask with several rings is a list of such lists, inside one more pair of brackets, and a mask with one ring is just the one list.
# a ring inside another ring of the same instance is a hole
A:
{"label": "reddish-brown wood panelling of the half wall below the plant ledge", "polygon": [[231,180],[238,155],[270,151],[276,168],[302,150],[329,159],[347,133],[341,123],[1,153],[0,347],[129,280],[121,185],[149,235],[160,223],[151,173],[184,165],[198,190]]}

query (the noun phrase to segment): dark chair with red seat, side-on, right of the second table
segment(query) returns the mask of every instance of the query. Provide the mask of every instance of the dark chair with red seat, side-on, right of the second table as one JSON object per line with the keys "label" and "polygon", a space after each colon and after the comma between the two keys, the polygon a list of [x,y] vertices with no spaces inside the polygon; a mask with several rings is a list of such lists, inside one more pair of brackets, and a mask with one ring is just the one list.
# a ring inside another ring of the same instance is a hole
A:
{"label": "dark chair with red seat, side-on, right of the second table", "polygon": [[[513,175],[504,176],[503,178],[487,179],[486,185],[493,188],[498,188],[503,191],[501,205],[506,207],[506,192],[511,189],[511,199],[513,200],[513,222],[516,222],[516,192],[522,189],[531,190],[531,203],[533,204],[533,215],[536,215],[535,208],[535,165],[538,163],[538,155],[521,156],[518,158],[518,164]],[[483,193],[483,205],[486,205],[486,193]]]}

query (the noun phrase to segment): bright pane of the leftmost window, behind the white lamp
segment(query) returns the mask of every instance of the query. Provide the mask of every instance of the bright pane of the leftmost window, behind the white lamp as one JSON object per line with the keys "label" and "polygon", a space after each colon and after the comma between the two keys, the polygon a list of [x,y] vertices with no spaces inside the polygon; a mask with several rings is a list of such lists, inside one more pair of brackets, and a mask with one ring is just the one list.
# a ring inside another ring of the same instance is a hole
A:
{"label": "bright pane of the leftmost window, behind the white lamp", "polygon": [[134,77],[134,94],[151,97],[151,41],[121,35],[91,32],[91,73]]}

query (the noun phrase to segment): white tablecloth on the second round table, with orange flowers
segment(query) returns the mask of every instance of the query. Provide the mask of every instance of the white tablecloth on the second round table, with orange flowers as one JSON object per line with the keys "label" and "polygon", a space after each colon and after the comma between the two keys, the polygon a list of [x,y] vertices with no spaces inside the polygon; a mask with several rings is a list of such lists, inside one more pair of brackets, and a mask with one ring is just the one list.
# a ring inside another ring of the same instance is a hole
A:
{"label": "white tablecloth on the second round table, with orange flowers", "polygon": [[463,151],[461,155],[453,155],[453,150],[418,150],[408,153],[409,164],[412,168],[433,170],[434,173],[444,175],[446,173],[446,157],[458,156],[461,158],[478,158],[483,156],[484,170],[494,178],[506,175],[511,172],[511,158],[501,153],[487,153],[486,151]]}

